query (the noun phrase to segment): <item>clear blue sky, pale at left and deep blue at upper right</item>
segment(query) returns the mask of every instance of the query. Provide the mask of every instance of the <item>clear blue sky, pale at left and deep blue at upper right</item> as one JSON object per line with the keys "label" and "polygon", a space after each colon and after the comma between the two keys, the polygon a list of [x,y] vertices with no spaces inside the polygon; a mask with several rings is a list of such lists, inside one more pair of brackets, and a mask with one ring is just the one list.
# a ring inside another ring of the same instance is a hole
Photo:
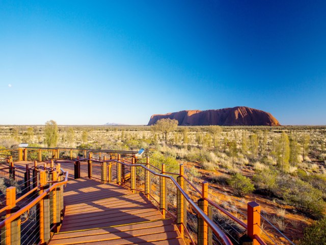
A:
{"label": "clear blue sky, pale at left and deep blue at upper right", "polygon": [[326,1],[1,1],[0,124],[249,106],[326,125]]}

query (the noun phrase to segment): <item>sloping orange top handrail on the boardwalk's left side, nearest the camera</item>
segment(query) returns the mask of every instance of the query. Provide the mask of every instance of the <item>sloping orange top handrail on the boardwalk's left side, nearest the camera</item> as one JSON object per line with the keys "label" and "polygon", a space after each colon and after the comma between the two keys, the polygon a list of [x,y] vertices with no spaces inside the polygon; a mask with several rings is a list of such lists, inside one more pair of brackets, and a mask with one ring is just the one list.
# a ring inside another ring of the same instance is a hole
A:
{"label": "sloping orange top handrail on the boardwalk's left side, nearest the camera", "polygon": [[65,177],[64,181],[57,182],[56,184],[51,185],[49,188],[44,190],[44,192],[42,194],[40,194],[32,202],[25,205],[23,208],[19,209],[17,212],[13,213],[8,218],[4,219],[2,222],[0,222],[0,229],[3,228],[4,226],[10,224],[10,222],[12,222],[14,219],[18,218],[24,212],[30,210],[34,205],[36,205],[39,201],[41,201],[51,190],[57,188],[57,186],[67,184],[67,182],[68,182],[68,171],[66,171],[65,173],[66,173],[66,177]]}

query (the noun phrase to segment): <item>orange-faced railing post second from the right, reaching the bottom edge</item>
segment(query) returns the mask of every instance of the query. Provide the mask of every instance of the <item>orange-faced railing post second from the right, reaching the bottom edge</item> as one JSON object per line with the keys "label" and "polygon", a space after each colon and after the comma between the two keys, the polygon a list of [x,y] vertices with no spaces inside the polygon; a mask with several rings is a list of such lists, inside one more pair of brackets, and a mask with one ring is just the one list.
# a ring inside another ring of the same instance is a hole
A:
{"label": "orange-faced railing post second from the right, reaching the bottom edge", "polygon": [[[202,198],[198,200],[198,206],[201,210],[208,215],[208,183],[204,181],[202,183]],[[208,244],[208,225],[204,219],[198,215],[198,245]]]}

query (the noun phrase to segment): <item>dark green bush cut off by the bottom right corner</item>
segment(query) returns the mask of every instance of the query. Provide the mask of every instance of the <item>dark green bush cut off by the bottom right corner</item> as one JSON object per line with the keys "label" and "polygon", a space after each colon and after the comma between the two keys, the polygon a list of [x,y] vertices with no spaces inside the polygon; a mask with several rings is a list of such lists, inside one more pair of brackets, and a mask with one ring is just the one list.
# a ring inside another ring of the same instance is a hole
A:
{"label": "dark green bush cut off by the bottom right corner", "polygon": [[316,221],[304,230],[304,237],[300,239],[301,245],[325,245],[326,244],[326,218]]}

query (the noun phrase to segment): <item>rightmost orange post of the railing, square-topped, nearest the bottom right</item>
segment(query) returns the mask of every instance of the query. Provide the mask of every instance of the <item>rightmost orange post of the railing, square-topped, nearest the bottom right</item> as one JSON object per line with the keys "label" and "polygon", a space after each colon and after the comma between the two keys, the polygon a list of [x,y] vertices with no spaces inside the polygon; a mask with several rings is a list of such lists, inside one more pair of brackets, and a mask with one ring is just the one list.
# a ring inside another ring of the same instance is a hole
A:
{"label": "rightmost orange post of the railing, square-topped, nearest the bottom right", "polygon": [[259,245],[255,235],[260,235],[260,205],[256,202],[248,203],[248,236],[253,240],[253,245]]}

